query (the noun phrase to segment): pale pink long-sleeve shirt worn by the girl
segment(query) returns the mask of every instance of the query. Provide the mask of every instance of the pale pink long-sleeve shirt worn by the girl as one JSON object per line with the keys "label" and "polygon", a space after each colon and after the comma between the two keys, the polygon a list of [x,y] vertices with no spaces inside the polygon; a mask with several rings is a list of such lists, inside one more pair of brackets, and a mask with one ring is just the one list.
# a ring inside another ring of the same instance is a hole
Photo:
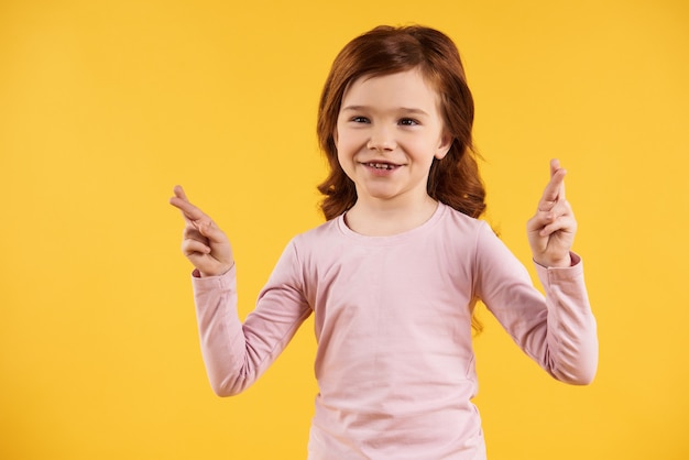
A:
{"label": "pale pink long-sleeve shirt worn by the girl", "polygon": [[210,383],[219,395],[247,388],[314,314],[309,459],[484,459],[475,302],[555,379],[587,384],[595,320],[572,256],[571,267],[536,266],[544,298],[485,222],[448,206],[390,237],[358,234],[340,216],[289,242],[243,324],[234,270],[194,277]]}

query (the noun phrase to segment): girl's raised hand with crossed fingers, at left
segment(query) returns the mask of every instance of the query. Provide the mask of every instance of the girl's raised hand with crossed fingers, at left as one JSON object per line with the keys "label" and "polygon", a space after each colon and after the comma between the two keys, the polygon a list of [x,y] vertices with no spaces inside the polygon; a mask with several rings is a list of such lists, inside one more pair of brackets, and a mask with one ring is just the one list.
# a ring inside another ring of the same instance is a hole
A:
{"label": "girl's raised hand with crossed fingers, at left", "polygon": [[181,186],[175,187],[175,196],[169,199],[169,204],[182,211],[186,222],[182,252],[198,270],[200,276],[227,273],[234,265],[234,258],[225,232],[210,217],[189,202]]}

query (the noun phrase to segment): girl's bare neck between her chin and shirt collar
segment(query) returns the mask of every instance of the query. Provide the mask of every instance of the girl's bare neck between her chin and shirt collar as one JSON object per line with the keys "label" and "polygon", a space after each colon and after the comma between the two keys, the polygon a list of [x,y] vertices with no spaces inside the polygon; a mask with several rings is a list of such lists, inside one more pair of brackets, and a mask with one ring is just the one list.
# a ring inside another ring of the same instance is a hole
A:
{"label": "girl's bare neck between her chin and shirt collar", "polygon": [[344,216],[347,226],[357,233],[385,237],[403,233],[424,224],[438,208],[428,195],[413,202],[358,200]]}

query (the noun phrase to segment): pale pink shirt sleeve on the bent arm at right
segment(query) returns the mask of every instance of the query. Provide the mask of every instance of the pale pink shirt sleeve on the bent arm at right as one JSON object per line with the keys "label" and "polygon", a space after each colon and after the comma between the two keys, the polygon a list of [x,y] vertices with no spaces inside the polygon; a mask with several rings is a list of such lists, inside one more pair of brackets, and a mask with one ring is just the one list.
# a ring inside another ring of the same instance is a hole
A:
{"label": "pale pink shirt sleeve on the bent arm at right", "polygon": [[598,336],[581,259],[572,253],[572,266],[565,269],[536,264],[544,297],[488,224],[478,238],[475,289],[489,310],[555,379],[591,383],[598,368]]}

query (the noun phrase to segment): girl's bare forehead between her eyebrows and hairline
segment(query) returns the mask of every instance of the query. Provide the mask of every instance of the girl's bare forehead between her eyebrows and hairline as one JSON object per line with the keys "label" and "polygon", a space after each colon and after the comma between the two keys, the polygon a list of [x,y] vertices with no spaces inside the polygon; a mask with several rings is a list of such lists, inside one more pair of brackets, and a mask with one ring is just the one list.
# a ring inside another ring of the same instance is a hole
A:
{"label": "girl's bare forehead between her eyebrows and hairline", "polygon": [[354,106],[436,108],[438,94],[418,68],[386,75],[364,75],[349,84],[342,108]]}

